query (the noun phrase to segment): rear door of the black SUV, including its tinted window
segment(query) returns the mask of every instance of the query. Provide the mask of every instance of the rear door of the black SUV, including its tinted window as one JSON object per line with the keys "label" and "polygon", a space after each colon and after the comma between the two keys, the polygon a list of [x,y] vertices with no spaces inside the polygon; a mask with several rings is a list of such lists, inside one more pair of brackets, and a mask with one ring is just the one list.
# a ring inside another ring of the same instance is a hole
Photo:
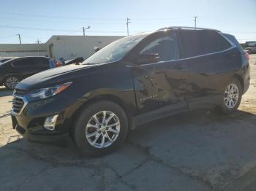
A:
{"label": "rear door of the black SUV, including its tinted window", "polygon": [[220,103],[225,82],[232,75],[235,50],[217,31],[182,30],[181,37],[189,71],[189,109]]}

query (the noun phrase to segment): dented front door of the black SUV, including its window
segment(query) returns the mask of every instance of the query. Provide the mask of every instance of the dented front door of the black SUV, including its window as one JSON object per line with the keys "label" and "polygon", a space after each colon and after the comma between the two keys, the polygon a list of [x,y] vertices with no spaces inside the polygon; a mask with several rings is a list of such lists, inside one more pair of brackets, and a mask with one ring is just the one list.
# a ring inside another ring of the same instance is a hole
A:
{"label": "dented front door of the black SUV, including its window", "polygon": [[[144,63],[132,68],[135,94],[139,113],[152,112],[156,115],[187,110],[186,61],[179,60],[180,51],[176,32],[151,36],[139,54],[157,54],[157,63]],[[156,117],[156,116],[153,116]]]}

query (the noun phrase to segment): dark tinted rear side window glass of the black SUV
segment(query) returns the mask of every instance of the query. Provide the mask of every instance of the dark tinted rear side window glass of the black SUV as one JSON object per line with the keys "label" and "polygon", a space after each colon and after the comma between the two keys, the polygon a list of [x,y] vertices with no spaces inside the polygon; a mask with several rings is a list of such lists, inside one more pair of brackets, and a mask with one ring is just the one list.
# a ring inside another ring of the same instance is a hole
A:
{"label": "dark tinted rear side window glass of the black SUV", "polygon": [[216,31],[181,31],[187,58],[226,50],[231,45]]}

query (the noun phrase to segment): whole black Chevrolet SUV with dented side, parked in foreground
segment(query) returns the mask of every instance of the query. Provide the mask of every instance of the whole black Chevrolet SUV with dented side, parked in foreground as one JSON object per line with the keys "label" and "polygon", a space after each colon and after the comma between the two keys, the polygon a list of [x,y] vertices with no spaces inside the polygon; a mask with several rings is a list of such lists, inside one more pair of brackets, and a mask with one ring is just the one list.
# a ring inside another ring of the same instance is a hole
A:
{"label": "whole black Chevrolet SUV with dented side, parked in foreground", "polygon": [[71,136],[82,152],[102,155],[151,120],[209,106],[234,112],[248,87],[249,64],[234,36],[162,28],[24,79],[13,93],[12,124],[31,141]]}

